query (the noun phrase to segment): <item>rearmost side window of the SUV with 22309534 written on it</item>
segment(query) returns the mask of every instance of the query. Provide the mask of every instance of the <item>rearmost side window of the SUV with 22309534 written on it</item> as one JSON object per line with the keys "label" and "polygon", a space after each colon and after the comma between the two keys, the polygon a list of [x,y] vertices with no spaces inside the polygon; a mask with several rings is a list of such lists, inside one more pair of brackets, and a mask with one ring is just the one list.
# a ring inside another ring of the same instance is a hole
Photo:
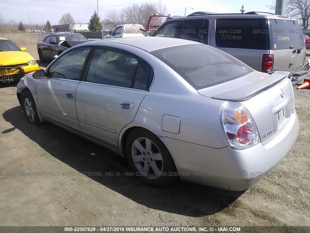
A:
{"label": "rearmost side window of the SUV with 22309534 written on it", "polygon": [[222,48],[269,50],[266,19],[218,18],[216,44]]}

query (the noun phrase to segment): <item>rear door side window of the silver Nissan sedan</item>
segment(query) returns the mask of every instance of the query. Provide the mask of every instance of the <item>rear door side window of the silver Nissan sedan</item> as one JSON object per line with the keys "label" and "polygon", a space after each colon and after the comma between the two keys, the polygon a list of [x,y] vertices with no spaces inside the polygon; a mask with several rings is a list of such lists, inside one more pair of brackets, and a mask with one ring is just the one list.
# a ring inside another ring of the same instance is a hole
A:
{"label": "rear door side window of the silver Nissan sedan", "polygon": [[140,57],[118,49],[97,48],[86,81],[148,90],[153,79],[151,66]]}

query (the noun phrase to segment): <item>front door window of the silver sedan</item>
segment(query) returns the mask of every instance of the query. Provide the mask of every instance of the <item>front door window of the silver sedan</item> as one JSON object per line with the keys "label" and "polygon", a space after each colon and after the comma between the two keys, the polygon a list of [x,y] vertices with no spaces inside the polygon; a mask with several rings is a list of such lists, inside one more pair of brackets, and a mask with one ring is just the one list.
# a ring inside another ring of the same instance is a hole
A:
{"label": "front door window of the silver sedan", "polygon": [[47,77],[79,80],[91,47],[81,47],[63,54],[49,68]]}

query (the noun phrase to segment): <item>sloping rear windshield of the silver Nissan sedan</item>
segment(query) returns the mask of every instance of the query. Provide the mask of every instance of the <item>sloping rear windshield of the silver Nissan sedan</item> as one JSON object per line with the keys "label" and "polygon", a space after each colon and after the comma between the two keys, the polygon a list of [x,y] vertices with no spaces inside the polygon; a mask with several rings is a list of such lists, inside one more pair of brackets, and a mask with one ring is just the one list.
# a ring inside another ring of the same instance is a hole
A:
{"label": "sloping rear windshield of the silver Nissan sedan", "polygon": [[253,70],[232,56],[207,45],[184,45],[152,51],[196,90],[231,81]]}

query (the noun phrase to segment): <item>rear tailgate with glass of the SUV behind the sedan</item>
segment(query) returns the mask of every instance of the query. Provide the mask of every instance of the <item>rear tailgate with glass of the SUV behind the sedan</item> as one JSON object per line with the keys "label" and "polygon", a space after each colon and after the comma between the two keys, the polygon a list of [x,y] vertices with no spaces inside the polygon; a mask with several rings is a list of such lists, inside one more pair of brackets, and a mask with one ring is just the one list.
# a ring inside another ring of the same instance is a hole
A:
{"label": "rear tailgate with glass of the SUV behind the sedan", "polygon": [[306,48],[297,21],[269,20],[270,54],[274,54],[273,70],[302,70]]}

